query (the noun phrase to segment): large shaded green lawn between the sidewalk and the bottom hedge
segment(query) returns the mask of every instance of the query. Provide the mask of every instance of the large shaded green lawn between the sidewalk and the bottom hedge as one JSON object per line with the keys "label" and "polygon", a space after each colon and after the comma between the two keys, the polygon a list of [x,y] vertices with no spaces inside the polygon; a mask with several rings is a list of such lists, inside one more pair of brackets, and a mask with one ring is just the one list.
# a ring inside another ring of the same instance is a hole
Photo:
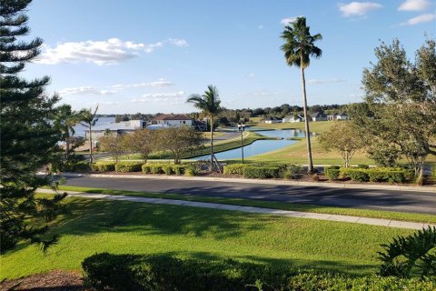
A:
{"label": "large shaded green lawn between the sidewalk and the bottom hedge", "polygon": [[1,256],[0,280],[51,269],[80,270],[86,256],[168,254],[233,257],[260,264],[322,269],[355,276],[378,268],[377,251],[411,230],[187,206],[68,198],[57,245],[43,254],[22,243]]}

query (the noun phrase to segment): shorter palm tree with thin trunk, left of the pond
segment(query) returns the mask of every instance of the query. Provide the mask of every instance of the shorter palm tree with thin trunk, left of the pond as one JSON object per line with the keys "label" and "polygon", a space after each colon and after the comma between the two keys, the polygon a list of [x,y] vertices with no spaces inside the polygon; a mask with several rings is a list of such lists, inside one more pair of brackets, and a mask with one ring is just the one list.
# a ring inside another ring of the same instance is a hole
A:
{"label": "shorter palm tree with thin trunk, left of the pond", "polygon": [[209,115],[211,121],[211,170],[213,169],[213,116],[218,115],[222,111],[220,95],[218,89],[214,85],[208,85],[207,90],[203,95],[189,95],[186,100],[188,103],[193,103],[194,107],[203,111],[205,115]]}

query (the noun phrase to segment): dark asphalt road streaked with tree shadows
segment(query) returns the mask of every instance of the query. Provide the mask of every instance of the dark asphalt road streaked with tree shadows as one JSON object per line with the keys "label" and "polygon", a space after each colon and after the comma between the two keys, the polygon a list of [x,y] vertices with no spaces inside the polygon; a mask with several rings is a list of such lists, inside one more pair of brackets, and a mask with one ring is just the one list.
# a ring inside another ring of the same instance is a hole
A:
{"label": "dark asphalt road streaked with tree shadows", "polygon": [[428,192],[88,176],[68,177],[65,185],[193,196],[241,197],[436,215],[436,193]]}

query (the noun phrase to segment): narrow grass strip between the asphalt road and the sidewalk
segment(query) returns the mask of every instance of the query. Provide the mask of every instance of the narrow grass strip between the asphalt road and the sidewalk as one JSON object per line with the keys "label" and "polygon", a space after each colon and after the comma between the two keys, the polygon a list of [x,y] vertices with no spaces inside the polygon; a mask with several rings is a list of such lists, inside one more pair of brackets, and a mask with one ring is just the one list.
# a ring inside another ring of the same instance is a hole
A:
{"label": "narrow grass strip between the asphalt road and the sidewalk", "polygon": [[77,187],[77,186],[60,186],[59,189],[64,191],[77,191],[77,192],[85,192],[85,193],[101,193],[107,195],[139,196],[139,197],[149,197],[149,198],[211,202],[211,203],[228,204],[234,206],[256,206],[256,207],[264,207],[264,208],[314,212],[314,213],[323,213],[323,214],[331,214],[331,215],[364,216],[364,217],[436,224],[436,216],[424,215],[424,214],[401,213],[401,212],[393,212],[393,211],[391,212],[391,211],[360,209],[360,208],[343,208],[343,207],[334,207],[334,206],[316,206],[316,205],[309,205],[309,204],[258,201],[258,200],[250,200],[250,199],[243,199],[243,198],[223,198],[223,197],[210,197],[210,196],[188,196],[188,195],[180,195],[180,194],[148,193],[148,192],[112,190],[112,189],[102,189],[102,188]]}

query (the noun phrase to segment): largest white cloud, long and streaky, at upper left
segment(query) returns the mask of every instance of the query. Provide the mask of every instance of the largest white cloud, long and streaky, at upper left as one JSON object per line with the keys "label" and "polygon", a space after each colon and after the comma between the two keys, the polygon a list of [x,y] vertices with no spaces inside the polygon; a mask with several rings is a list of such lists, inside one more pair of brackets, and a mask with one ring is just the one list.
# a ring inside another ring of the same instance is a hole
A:
{"label": "largest white cloud, long and streaky, at upper left", "polygon": [[94,63],[96,65],[114,65],[140,55],[140,52],[152,53],[164,43],[176,46],[188,45],[184,39],[169,38],[155,44],[141,44],[131,41],[122,41],[118,38],[110,38],[104,41],[92,41],[78,43],[62,43],[54,48],[45,45],[45,50],[37,63],[55,65],[59,63]]}

